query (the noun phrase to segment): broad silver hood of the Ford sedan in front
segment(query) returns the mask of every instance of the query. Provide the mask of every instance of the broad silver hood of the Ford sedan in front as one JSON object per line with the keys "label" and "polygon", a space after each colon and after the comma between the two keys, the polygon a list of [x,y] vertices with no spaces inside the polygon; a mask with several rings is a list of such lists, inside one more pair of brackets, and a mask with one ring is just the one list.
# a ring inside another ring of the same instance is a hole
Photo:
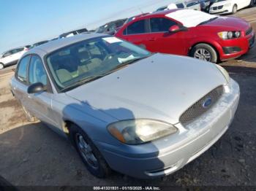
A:
{"label": "broad silver hood of the Ford sedan in front", "polygon": [[225,82],[213,63],[155,54],[66,94],[114,120],[151,118],[175,124],[189,106]]}

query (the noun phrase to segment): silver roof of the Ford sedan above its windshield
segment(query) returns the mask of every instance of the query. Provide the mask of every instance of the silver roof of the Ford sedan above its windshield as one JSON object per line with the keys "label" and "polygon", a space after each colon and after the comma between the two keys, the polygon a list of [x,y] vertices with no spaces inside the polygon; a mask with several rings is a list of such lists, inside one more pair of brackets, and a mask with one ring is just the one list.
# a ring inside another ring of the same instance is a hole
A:
{"label": "silver roof of the Ford sedan above its windshield", "polygon": [[48,43],[39,45],[38,47],[34,47],[33,49],[26,52],[23,56],[30,55],[30,54],[38,54],[38,55],[43,56],[49,52],[58,50],[61,47],[66,47],[69,44],[73,44],[75,42],[80,42],[80,41],[83,41],[86,39],[91,39],[91,38],[99,37],[99,36],[106,36],[106,34],[96,34],[96,33],[86,32],[83,34],[78,34],[78,35],[70,36],[70,37],[63,38],[63,39],[56,39],[54,41],[50,41]]}

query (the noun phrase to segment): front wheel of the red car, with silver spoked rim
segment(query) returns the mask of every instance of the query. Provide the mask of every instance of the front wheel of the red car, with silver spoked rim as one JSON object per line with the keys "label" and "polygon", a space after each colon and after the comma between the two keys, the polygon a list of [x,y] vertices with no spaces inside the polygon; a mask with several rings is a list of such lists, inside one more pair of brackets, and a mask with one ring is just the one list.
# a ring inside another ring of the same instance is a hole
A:
{"label": "front wheel of the red car, with silver spoked rim", "polygon": [[211,47],[211,45],[209,44],[196,44],[194,47],[192,47],[189,55],[193,58],[208,61],[211,63],[217,63],[218,61],[218,55],[216,50],[214,50],[214,47]]}

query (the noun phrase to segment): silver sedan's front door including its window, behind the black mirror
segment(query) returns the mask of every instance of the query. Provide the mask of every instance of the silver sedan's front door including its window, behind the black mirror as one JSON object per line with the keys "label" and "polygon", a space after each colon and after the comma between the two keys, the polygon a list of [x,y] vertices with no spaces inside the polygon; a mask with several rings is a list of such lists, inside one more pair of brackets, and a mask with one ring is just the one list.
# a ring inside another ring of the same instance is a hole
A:
{"label": "silver sedan's front door including its window, behind the black mirror", "polygon": [[42,59],[38,55],[31,55],[28,73],[29,85],[41,82],[45,87],[47,87],[47,90],[44,92],[28,94],[29,110],[42,122],[45,122],[50,126],[58,126],[58,123],[54,120],[55,114],[51,106],[53,93],[50,82],[42,63]]}

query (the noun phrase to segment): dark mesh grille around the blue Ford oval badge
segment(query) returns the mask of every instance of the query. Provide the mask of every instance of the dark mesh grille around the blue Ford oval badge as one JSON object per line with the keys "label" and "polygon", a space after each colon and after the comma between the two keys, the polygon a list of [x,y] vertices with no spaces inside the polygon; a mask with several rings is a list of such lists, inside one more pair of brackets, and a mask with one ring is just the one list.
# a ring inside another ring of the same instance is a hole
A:
{"label": "dark mesh grille around the blue Ford oval badge", "polygon": [[[181,117],[179,118],[179,121],[182,125],[187,125],[189,122],[192,122],[192,120],[195,120],[197,117],[199,117],[201,114],[206,112],[208,109],[211,108],[222,96],[224,89],[223,86],[216,87],[214,90],[211,90],[211,92],[207,93],[203,98],[200,98],[199,101],[195,102],[192,106],[189,107],[183,114],[181,114]],[[203,106],[208,100],[211,98],[211,104],[209,106]]]}

